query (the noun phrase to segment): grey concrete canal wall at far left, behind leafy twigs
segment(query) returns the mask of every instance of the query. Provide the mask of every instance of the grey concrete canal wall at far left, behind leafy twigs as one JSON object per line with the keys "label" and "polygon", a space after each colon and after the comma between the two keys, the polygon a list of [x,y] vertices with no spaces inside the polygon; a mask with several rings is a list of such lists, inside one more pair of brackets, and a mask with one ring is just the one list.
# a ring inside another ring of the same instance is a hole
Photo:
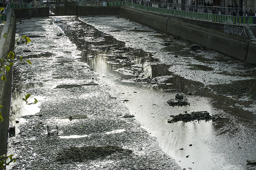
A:
{"label": "grey concrete canal wall at far left, behind leafy twigs", "polygon": [[[16,31],[16,18],[14,17],[14,11],[10,11],[7,16],[7,21],[1,32],[0,42],[1,42],[1,59],[5,58],[9,51],[14,50],[14,40]],[[3,37],[4,33],[7,34],[7,38]],[[12,84],[12,68],[9,72],[5,73],[7,81],[0,81],[0,95],[1,103],[3,105],[0,109],[3,122],[0,122],[0,155],[6,154],[7,151],[7,139],[8,139],[8,126],[9,126],[9,113],[11,104],[11,84]]]}

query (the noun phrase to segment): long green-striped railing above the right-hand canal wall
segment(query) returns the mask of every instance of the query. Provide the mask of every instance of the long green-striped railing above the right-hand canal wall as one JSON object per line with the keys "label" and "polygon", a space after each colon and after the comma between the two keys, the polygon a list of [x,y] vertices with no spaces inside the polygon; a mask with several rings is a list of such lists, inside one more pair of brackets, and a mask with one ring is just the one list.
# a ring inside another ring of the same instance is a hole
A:
{"label": "long green-striped railing above the right-hand canal wall", "polygon": [[[256,16],[222,15],[221,11],[224,10],[225,8],[221,8],[221,7],[218,7],[218,8],[212,7],[211,9],[209,8],[209,11],[211,11],[211,13],[208,13],[208,12],[206,13],[205,10],[204,11],[202,10],[204,6],[199,7],[199,6],[193,6],[193,5],[189,6],[184,4],[154,3],[149,1],[140,1],[140,2],[137,1],[137,3],[132,3],[128,1],[108,2],[108,6],[116,6],[116,5],[126,5],[129,7],[141,9],[144,11],[163,13],[163,14],[169,14],[174,16],[189,17],[189,18],[199,19],[199,20],[210,20],[210,21],[217,21],[222,23],[234,23],[234,24],[256,24]],[[188,7],[190,8],[191,11],[186,10],[186,9],[189,9]],[[208,7],[204,7],[204,8],[208,8]],[[218,12],[217,10],[219,11],[218,14],[217,14]],[[232,10],[235,11],[236,9],[233,8]],[[240,9],[240,10],[245,11],[246,9]],[[227,9],[227,11],[229,10]]]}

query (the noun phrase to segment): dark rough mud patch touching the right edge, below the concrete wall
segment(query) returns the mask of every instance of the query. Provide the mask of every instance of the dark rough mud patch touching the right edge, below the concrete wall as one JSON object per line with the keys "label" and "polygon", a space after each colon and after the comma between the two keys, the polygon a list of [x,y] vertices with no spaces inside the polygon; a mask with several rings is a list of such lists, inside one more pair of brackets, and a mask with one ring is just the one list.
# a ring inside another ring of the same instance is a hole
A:
{"label": "dark rough mud patch touching the right edge, below the concrete wall", "polygon": [[249,96],[253,99],[256,98],[256,79],[241,80],[230,84],[215,84],[208,87],[217,94],[232,95],[238,98],[243,96]]}

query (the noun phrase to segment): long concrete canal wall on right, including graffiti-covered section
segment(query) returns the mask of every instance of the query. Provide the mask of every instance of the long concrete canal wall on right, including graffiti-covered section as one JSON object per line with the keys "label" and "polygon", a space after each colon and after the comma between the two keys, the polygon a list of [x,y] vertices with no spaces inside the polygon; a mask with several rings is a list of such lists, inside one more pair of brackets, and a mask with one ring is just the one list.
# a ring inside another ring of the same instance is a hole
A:
{"label": "long concrete canal wall on right, including graffiti-covered section", "polygon": [[[119,15],[158,31],[180,36],[182,39],[193,43],[202,44],[227,56],[256,64],[255,37],[247,31],[248,28],[246,26],[198,21],[188,18],[177,19],[176,17],[174,19],[173,16],[155,15],[154,13],[123,6],[120,7]],[[237,28],[235,29],[235,27]],[[254,40],[248,43],[248,40],[253,38]]]}

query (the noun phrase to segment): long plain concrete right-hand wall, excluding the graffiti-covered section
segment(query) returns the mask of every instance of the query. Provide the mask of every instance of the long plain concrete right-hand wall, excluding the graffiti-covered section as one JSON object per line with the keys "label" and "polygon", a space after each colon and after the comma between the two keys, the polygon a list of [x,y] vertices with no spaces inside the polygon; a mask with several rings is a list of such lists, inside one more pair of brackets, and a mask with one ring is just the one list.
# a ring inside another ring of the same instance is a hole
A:
{"label": "long plain concrete right-hand wall, excluding the graffiti-covered section", "polygon": [[[135,20],[158,31],[180,36],[182,39],[205,45],[227,56],[256,64],[256,59],[253,55],[245,58],[248,38],[230,35],[225,33],[224,30],[221,32],[191,23],[184,23],[183,21],[167,19],[163,16],[128,7],[120,8],[120,16],[122,17]],[[249,48],[252,48],[249,51],[253,51],[253,46],[249,46]]]}

